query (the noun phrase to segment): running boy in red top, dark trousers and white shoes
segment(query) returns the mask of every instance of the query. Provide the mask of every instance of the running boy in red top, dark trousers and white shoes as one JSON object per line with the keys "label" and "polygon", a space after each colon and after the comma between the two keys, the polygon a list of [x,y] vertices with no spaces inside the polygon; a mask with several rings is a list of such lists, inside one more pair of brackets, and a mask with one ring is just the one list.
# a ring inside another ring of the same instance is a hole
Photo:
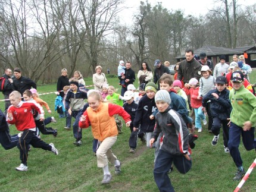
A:
{"label": "running boy in red top, dark trousers and white shoes", "polygon": [[21,131],[18,140],[18,149],[20,150],[21,164],[16,168],[17,171],[27,171],[27,157],[29,155],[29,144],[35,148],[52,151],[58,155],[58,150],[53,143],[47,144],[36,136],[36,124],[33,118],[32,110],[40,114],[40,121],[43,121],[43,110],[39,104],[21,102],[21,94],[14,91],[10,94],[11,106],[8,108],[8,122],[15,124],[18,131]]}

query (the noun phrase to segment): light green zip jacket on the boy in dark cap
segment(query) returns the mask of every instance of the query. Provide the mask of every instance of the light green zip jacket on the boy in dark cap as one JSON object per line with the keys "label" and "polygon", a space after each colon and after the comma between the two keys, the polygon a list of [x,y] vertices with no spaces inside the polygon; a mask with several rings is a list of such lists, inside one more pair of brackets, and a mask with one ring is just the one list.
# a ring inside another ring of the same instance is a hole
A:
{"label": "light green zip jacket on the boy in dark cap", "polygon": [[243,127],[245,121],[251,121],[252,127],[255,127],[256,97],[242,86],[237,91],[235,89],[230,90],[229,99],[233,108],[230,115],[231,122]]}

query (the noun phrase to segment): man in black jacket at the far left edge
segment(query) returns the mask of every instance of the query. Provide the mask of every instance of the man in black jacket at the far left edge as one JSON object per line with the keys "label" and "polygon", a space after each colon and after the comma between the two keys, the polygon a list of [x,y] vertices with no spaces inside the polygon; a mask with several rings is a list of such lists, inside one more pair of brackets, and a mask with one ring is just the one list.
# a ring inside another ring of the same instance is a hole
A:
{"label": "man in black jacket at the far left edge", "polygon": [[7,68],[5,70],[5,74],[2,75],[2,77],[5,78],[5,86],[4,90],[2,90],[2,94],[4,95],[5,99],[5,111],[4,114],[7,114],[7,109],[11,105],[10,100],[9,100],[9,95],[11,92],[13,92],[13,79],[11,78],[11,69]]}

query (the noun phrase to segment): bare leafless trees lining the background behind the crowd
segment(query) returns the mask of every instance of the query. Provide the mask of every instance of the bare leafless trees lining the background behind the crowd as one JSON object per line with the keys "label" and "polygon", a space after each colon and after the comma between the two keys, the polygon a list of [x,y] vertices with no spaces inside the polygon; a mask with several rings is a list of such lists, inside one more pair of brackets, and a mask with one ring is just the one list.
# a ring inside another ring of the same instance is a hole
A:
{"label": "bare leafless trees lining the background behind the crowd", "polygon": [[136,71],[142,61],[175,64],[185,48],[255,45],[256,4],[215,3],[196,17],[141,1],[128,26],[118,20],[127,8],[122,0],[2,0],[1,72],[19,67],[36,82],[53,83],[61,68],[69,77],[76,70],[88,77],[96,65],[115,74],[121,59]]}

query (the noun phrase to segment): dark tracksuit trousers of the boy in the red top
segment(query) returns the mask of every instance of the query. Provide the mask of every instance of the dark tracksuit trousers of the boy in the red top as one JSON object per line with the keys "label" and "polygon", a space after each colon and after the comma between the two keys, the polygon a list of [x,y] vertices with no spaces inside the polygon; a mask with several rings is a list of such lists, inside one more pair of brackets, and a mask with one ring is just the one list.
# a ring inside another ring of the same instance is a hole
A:
{"label": "dark tracksuit trousers of the boy in the red top", "polygon": [[26,130],[21,135],[18,140],[18,149],[20,150],[20,160],[21,163],[27,165],[27,157],[29,156],[29,144],[31,144],[34,148],[41,148],[44,150],[52,150],[52,146],[45,143],[36,136],[36,131]]}

